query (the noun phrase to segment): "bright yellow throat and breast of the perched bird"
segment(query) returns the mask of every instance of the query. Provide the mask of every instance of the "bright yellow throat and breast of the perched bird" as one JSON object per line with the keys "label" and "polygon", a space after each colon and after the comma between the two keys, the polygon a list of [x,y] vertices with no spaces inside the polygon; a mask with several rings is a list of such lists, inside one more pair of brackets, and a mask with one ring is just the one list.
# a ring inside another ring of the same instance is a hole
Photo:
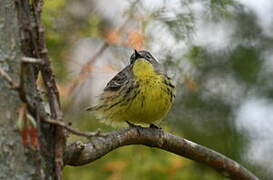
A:
{"label": "bright yellow throat and breast of the perched bird", "polygon": [[128,108],[128,117],[136,123],[152,123],[165,117],[171,107],[171,95],[164,76],[155,72],[151,63],[137,60],[133,67],[139,93]]}

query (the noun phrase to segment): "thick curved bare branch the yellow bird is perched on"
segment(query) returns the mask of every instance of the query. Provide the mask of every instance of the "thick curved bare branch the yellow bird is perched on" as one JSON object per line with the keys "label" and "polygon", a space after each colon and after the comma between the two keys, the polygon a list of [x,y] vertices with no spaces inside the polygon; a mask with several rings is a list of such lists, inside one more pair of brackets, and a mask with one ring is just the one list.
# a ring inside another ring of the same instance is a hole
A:
{"label": "thick curved bare branch the yellow bird is perched on", "polygon": [[94,138],[87,144],[72,143],[66,148],[64,162],[66,165],[80,166],[93,162],[119,147],[136,144],[157,147],[204,163],[232,179],[258,179],[224,155],[156,128],[126,128],[113,131],[104,137]]}

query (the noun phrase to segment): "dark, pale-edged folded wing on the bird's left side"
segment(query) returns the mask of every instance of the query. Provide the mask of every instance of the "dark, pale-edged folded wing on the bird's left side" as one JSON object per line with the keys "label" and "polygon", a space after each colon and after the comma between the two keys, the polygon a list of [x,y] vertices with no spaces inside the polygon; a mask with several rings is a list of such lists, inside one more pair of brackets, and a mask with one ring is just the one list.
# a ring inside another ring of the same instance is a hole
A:
{"label": "dark, pale-edged folded wing on the bird's left side", "polygon": [[130,71],[131,66],[126,66],[122,71],[120,71],[111,81],[109,81],[104,88],[104,91],[118,91],[126,82],[129,81],[131,76]]}

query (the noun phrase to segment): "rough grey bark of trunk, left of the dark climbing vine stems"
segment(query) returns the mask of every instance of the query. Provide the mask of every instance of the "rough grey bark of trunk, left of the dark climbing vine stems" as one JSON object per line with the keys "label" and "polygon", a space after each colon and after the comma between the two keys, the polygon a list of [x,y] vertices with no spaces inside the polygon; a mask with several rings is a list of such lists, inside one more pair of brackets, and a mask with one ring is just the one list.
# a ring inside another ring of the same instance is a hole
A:
{"label": "rough grey bark of trunk, left of the dark climbing vine stems", "polygon": [[[0,66],[19,81],[20,40],[14,4],[0,1]],[[16,110],[20,100],[3,78],[0,79],[0,179],[31,179],[36,176],[35,162],[24,152],[20,134],[15,131]]]}

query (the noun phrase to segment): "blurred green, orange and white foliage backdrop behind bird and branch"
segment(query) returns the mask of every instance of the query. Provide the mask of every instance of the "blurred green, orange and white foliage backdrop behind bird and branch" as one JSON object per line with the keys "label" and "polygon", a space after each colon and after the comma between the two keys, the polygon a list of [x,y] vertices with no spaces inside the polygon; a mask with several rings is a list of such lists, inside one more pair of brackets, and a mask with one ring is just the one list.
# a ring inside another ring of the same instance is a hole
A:
{"label": "blurred green, orange and white foliage backdrop behind bird and branch", "polygon": [[[115,129],[84,108],[133,49],[146,49],[177,85],[175,105],[159,125],[272,179],[273,1],[47,0],[43,22],[65,120],[74,127]],[[128,146],[65,167],[64,179],[225,178],[162,150]]]}

